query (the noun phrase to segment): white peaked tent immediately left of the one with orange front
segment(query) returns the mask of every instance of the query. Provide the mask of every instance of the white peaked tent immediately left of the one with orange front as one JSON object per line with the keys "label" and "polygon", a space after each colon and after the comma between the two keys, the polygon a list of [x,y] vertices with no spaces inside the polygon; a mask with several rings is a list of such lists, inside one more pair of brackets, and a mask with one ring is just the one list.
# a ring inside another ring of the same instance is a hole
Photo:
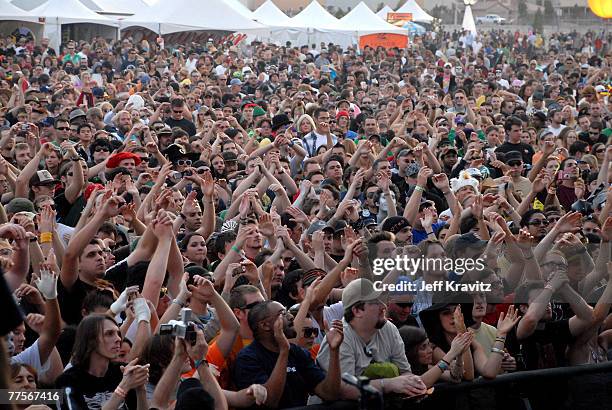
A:
{"label": "white peaked tent immediately left of the one with orange front", "polygon": [[[298,27],[308,27],[306,42],[297,45],[312,43],[334,43],[342,47],[355,44],[356,27],[350,27],[332,16],[316,0],[313,0],[304,10],[291,18],[291,22]],[[279,41],[281,41],[279,39]]]}

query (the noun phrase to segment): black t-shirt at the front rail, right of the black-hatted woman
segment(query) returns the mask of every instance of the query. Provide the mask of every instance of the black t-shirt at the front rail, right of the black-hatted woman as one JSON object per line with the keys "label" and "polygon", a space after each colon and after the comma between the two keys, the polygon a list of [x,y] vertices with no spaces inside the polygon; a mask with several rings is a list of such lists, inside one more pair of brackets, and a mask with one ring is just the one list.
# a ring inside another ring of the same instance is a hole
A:
{"label": "black t-shirt at the front rail, right of the black-hatted woman", "polygon": [[565,351],[573,337],[569,330],[569,320],[545,322],[543,329],[524,340],[517,340],[515,326],[507,339],[507,347],[517,359],[518,370],[548,369],[566,366]]}

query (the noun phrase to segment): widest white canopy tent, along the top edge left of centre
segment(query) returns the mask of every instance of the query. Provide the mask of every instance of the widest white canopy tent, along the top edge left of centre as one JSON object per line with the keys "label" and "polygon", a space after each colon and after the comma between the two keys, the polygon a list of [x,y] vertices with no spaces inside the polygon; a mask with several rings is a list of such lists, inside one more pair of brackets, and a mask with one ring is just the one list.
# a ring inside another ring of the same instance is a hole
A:
{"label": "widest white canopy tent, along the top edge left of centre", "polygon": [[181,31],[232,31],[261,34],[267,28],[244,16],[224,0],[158,1],[121,21],[121,27],[140,26],[159,34]]}

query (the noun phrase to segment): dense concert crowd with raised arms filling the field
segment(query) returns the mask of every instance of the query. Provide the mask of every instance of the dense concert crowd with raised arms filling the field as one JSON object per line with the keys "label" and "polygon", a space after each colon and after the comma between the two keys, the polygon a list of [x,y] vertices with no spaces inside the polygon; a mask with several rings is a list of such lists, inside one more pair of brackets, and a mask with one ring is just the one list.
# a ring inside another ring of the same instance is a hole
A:
{"label": "dense concert crowd with raised arms filling the field", "polygon": [[2,39],[0,387],[354,408],[608,361],[611,43]]}

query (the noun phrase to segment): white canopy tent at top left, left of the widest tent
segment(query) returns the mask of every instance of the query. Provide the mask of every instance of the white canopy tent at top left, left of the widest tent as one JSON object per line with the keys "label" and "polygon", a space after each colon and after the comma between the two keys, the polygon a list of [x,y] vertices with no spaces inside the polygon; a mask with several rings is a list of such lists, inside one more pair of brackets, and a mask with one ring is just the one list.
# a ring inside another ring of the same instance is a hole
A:
{"label": "white canopy tent at top left, left of the widest tent", "polygon": [[[91,24],[99,24],[103,26],[117,27],[117,23],[101,16],[87,7],[79,0],[49,0],[40,6],[30,10],[30,14],[45,19],[44,36],[49,38],[51,47],[59,51],[62,35],[62,25],[81,23],[80,31],[96,31]],[[89,24],[83,24],[89,23]],[[116,37],[117,30],[113,30],[113,37]],[[98,27],[94,35],[109,35],[111,31],[102,33]],[[75,35],[73,38],[83,37],[83,35]]]}

